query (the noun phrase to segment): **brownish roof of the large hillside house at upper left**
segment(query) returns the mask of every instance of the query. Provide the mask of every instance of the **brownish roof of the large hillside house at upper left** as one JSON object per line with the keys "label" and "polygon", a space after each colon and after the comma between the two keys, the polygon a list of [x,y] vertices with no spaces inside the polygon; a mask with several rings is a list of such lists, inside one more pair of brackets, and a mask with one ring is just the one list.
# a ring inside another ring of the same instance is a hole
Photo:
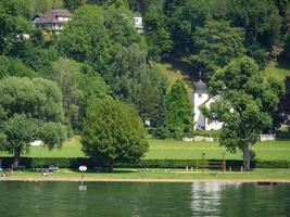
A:
{"label": "brownish roof of the large hillside house at upper left", "polygon": [[35,24],[63,24],[66,21],[59,21],[58,17],[70,17],[71,12],[66,9],[52,9],[45,14],[36,14],[33,18]]}

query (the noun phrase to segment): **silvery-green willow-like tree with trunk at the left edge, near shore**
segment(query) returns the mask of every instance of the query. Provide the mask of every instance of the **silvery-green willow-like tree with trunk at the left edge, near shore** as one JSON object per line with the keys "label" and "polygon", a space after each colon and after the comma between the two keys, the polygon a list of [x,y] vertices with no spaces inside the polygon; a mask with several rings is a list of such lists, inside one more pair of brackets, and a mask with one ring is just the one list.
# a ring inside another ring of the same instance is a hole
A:
{"label": "silvery-green willow-like tree with trunk at the left edge, near shore", "polygon": [[14,153],[14,167],[29,142],[42,140],[50,149],[66,138],[62,125],[62,94],[42,78],[7,77],[0,80],[0,149]]}

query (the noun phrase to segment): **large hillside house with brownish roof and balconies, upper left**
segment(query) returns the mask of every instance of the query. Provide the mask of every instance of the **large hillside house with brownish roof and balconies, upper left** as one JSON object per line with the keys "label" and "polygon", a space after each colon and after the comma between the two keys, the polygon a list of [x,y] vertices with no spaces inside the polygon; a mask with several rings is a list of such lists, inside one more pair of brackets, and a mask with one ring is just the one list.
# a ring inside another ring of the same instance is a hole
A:
{"label": "large hillside house with brownish roof and balconies, upper left", "polygon": [[33,23],[38,28],[49,28],[52,31],[63,29],[63,25],[70,21],[71,12],[66,9],[52,9],[45,14],[36,14]]}

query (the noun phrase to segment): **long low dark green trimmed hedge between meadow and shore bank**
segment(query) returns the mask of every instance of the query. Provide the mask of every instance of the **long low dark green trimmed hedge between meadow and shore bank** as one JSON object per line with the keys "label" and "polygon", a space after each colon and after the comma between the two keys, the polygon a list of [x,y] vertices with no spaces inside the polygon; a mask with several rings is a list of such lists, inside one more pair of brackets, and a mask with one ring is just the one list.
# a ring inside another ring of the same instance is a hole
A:
{"label": "long low dark green trimmed hedge between meadow and shore bank", "polygon": [[[3,168],[9,168],[13,157],[0,157]],[[220,159],[206,159],[206,164],[215,164]],[[87,165],[89,168],[103,167],[100,162],[93,162],[87,157],[22,157],[21,165],[26,168],[47,168],[56,165],[60,168],[78,168],[79,165]],[[240,159],[226,159],[227,169],[240,169],[243,162]],[[141,159],[139,163],[116,164],[116,168],[197,168],[197,159]],[[252,168],[290,168],[290,161],[253,161]]]}

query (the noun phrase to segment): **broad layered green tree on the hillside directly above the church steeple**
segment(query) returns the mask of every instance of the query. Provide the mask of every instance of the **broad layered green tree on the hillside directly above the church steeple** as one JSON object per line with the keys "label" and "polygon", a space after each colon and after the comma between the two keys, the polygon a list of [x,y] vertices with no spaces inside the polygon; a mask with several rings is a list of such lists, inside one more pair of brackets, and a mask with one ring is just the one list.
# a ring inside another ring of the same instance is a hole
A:
{"label": "broad layered green tree on the hillside directly above the church steeple", "polygon": [[204,27],[197,28],[192,39],[194,52],[190,56],[191,64],[196,72],[204,72],[207,78],[245,53],[243,29],[230,27],[226,22],[206,22]]}

